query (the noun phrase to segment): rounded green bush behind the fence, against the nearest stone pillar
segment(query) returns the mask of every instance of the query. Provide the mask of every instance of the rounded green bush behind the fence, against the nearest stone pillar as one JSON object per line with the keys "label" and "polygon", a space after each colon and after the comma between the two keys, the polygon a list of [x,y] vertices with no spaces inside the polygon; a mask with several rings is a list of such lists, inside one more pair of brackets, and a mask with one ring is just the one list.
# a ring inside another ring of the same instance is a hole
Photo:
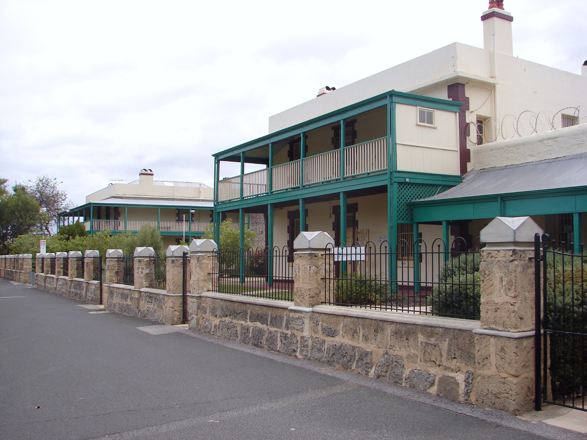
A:
{"label": "rounded green bush behind the fence, against the nearest stone pillar", "polygon": [[481,316],[480,260],[475,253],[461,254],[441,266],[438,284],[427,299],[434,314]]}

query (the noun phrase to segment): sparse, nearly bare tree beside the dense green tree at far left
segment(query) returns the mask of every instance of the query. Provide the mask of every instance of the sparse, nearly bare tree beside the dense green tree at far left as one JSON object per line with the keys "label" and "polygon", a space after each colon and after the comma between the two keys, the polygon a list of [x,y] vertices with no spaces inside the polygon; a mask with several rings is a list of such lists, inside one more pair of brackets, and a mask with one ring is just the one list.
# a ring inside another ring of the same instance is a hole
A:
{"label": "sparse, nearly bare tree beside the dense green tree at far left", "polygon": [[58,188],[63,182],[48,175],[37,177],[35,181],[29,180],[26,191],[38,202],[41,210],[46,212],[46,218],[39,222],[39,228],[51,233],[55,226],[59,212],[67,211],[73,205],[66,202],[68,193]]}

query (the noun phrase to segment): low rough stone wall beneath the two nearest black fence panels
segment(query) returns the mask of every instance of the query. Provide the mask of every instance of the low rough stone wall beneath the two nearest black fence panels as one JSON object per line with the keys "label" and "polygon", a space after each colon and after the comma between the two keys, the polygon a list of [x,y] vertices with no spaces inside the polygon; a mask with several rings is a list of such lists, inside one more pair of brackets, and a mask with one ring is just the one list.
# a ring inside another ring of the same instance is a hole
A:
{"label": "low rough stone wall beneath the two nearest black fence panels", "polygon": [[301,313],[205,296],[200,300],[190,329],[454,400],[471,400],[471,330]]}

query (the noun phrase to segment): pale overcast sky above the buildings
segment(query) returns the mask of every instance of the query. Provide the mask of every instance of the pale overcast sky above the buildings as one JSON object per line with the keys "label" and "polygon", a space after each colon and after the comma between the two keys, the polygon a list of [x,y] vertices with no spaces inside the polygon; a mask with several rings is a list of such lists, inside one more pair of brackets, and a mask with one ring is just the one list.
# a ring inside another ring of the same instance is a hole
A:
{"label": "pale overcast sky above the buildings", "polygon": [[[505,0],[514,55],[580,74],[586,3]],[[319,87],[483,47],[487,4],[0,0],[0,177],[57,177],[75,204],[141,168],[212,185],[211,153]]]}

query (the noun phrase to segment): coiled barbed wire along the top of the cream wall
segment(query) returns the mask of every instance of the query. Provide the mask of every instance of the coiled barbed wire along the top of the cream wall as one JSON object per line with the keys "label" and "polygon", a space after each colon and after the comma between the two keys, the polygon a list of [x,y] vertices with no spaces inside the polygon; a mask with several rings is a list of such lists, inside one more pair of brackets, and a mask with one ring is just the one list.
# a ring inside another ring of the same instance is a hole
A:
{"label": "coiled barbed wire along the top of the cream wall", "polygon": [[467,127],[467,139],[470,144],[477,145],[480,138],[483,138],[483,143],[486,144],[502,139],[544,133],[545,131],[562,128],[565,116],[576,119],[575,124],[581,123],[578,120],[579,107],[565,107],[554,114],[551,111],[534,113],[531,110],[524,110],[518,116],[507,114],[497,120],[489,117],[483,120],[483,124],[477,124],[477,121],[471,121]]}

